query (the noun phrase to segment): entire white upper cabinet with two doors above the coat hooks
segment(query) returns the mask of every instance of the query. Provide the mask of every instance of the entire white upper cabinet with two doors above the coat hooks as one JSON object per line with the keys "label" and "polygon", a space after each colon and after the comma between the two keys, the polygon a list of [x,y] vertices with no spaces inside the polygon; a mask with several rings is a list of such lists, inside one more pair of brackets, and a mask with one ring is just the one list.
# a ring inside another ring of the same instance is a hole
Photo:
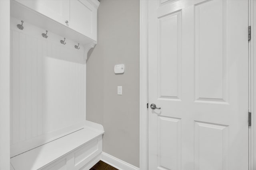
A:
{"label": "entire white upper cabinet with two doors above the coat hooks", "polygon": [[15,0],[97,41],[98,0]]}

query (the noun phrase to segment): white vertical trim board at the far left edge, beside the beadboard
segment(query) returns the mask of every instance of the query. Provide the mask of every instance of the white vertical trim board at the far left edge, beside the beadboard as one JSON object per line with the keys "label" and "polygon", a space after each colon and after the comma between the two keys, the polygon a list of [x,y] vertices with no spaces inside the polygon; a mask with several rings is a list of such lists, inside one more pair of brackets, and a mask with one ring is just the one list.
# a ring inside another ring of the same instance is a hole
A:
{"label": "white vertical trim board at the far left edge, beside the beadboard", "polygon": [[10,0],[0,0],[0,169],[10,169]]}

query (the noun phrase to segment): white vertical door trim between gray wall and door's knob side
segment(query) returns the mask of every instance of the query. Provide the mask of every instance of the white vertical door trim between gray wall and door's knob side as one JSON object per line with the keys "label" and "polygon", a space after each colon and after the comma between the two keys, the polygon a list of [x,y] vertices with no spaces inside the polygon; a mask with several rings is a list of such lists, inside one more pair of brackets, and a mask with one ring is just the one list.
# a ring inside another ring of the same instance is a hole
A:
{"label": "white vertical door trim between gray wall and door's knob side", "polygon": [[140,169],[148,170],[148,0],[140,0]]}

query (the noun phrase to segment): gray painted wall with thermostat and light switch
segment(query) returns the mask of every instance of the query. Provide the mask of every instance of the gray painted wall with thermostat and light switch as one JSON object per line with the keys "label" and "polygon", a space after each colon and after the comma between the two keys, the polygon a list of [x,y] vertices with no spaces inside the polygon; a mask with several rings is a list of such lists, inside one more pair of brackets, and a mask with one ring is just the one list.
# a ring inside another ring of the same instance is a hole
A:
{"label": "gray painted wall with thermostat and light switch", "polygon": [[[139,167],[139,0],[102,0],[86,65],[86,119],[104,126],[103,152]],[[124,74],[114,74],[125,64]],[[123,86],[123,95],[117,95]]]}

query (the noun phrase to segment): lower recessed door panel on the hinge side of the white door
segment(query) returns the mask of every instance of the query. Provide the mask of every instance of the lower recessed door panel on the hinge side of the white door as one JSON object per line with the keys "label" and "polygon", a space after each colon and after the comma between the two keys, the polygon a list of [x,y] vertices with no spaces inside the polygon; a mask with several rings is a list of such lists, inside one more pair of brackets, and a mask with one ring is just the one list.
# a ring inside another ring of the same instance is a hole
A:
{"label": "lower recessed door panel on the hinge side of the white door", "polygon": [[[229,126],[194,121],[194,134],[195,170],[227,170],[228,161],[225,158],[228,157]],[[214,160],[216,163],[208,167],[207,160]]]}

